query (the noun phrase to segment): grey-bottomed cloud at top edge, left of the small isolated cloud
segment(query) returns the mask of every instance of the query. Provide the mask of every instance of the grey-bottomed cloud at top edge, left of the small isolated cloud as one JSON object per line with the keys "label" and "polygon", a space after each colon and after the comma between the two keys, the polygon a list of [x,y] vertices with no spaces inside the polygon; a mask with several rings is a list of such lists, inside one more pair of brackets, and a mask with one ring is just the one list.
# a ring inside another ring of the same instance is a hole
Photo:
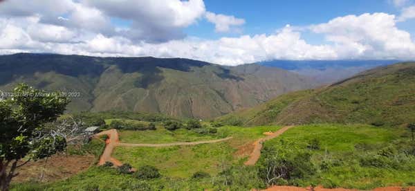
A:
{"label": "grey-bottomed cloud at top edge, left of the small isolated cloud", "polygon": [[133,40],[165,42],[185,37],[182,28],[194,24],[205,12],[202,0],[85,0],[111,17],[131,21],[131,28],[122,35]]}

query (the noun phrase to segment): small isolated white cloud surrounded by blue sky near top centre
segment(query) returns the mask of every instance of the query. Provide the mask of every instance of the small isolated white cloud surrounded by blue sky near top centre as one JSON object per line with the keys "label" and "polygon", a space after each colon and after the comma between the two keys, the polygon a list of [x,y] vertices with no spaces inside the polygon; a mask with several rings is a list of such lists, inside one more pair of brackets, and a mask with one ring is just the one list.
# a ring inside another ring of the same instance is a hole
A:
{"label": "small isolated white cloud surrounded by blue sky near top centre", "polygon": [[[206,19],[214,24],[214,30],[217,33],[230,32],[232,27],[237,27],[245,24],[244,19],[239,19],[234,16],[214,14],[213,12],[206,12]],[[238,28],[233,28],[233,30],[238,30]]]}

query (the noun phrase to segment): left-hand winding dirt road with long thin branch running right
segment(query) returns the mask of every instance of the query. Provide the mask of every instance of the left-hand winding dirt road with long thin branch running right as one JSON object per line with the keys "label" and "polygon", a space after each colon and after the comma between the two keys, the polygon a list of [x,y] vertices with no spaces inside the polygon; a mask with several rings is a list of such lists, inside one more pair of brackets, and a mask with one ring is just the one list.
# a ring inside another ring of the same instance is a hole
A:
{"label": "left-hand winding dirt road with long thin branch running right", "polygon": [[196,142],[179,142],[179,143],[162,143],[162,144],[140,144],[140,143],[120,143],[120,139],[118,136],[118,131],[116,129],[109,129],[107,131],[102,131],[98,134],[95,134],[95,137],[100,137],[103,135],[107,135],[109,138],[105,141],[107,143],[104,152],[102,152],[102,155],[100,157],[100,162],[98,165],[104,165],[105,162],[109,161],[113,163],[116,166],[122,165],[120,161],[118,161],[116,158],[112,158],[111,154],[113,152],[113,149],[118,146],[126,146],[126,147],[170,147],[170,146],[177,146],[177,145],[199,145],[199,144],[205,144],[205,143],[219,143],[225,140],[229,140],[232,138],[232,136],[228,138],[221,138],[221,139],[215,139],[215,140],[201,140]]}

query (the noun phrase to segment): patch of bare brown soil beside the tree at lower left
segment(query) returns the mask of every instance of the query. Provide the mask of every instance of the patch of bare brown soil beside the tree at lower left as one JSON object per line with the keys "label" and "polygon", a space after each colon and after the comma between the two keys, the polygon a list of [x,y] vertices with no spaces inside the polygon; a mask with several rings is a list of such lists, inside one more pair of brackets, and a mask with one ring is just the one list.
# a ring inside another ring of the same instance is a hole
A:
{"label": "patch of bare brown soil beside the tree at lower left", "polygon": [[[93,165],[95,157],[93,155],[69,155],[56,154],[46,159],[39,161],[30,161],[26,165],[19,167],[13,181],[57,181],[60,179],[67,179],[68,177],[77,174]],[[22,162],[23,163],[23,162]],[[41,180],[43,174],[43,179]]]}

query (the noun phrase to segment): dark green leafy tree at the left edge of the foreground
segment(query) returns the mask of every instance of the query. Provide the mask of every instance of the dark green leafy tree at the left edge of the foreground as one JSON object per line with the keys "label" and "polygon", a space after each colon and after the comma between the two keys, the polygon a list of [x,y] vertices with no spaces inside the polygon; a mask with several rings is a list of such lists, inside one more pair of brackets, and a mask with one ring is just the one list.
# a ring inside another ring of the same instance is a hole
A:
{"label": "dark green leafy tree at the left edge of the foreground", "polygon": [[[50,134],[46,124],[64,113],[69,100],[62,93],[46,93],[19,84],[0,100],[0,188],[8,190],[17,168],[46,158],[66,147],[64,137]],[[21,159],[24,163],[18,164]]]}

